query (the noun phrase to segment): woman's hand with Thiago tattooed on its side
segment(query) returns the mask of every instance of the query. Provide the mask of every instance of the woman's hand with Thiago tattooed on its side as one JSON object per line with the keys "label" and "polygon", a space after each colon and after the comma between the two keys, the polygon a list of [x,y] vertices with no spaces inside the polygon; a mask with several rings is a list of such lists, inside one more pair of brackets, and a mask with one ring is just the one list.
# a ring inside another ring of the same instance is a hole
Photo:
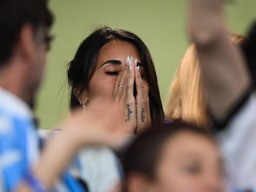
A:
{"label": "woman's hand with Thiago tattooed on its side", "polygon": [[134,84],[134,65],[130,58],[127,57],[124,70],[114,84],[112,100],[115,104],[123,107],[123,121],[126,122],[126,127],[129,127],[130,133],[134,133],[136,122],[136,104],[133,96],[133,84]]}

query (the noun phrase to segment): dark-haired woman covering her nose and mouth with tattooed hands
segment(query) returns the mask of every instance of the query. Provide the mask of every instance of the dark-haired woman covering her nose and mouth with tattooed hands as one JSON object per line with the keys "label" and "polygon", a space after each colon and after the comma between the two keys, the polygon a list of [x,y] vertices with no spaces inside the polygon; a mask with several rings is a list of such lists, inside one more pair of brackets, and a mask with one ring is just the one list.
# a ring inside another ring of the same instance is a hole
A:
{"label": "dark-haired woman covering her nose and mouth with tattooed hands", "polygon": [[120,113],[130,133],[164,122],[153,60],[143,41],[131,32],[95,30],[80,44],[67,76],[71,110],[80,105],[86,109],[94,99],[104,98],[122,106]]}

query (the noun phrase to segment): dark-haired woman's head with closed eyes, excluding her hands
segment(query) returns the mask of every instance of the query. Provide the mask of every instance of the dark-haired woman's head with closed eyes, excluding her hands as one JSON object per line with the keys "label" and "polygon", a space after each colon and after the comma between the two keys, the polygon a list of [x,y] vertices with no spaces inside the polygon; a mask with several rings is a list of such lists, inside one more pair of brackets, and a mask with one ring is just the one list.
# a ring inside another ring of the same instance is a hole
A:
{"label": "dark-haired woman's head with closed eyes, excluding her hands", "polygon": [[[114,83],[124,69],[127,57],[137,58],[139,72],[149,97],[152,123],[163,121],[164,112],[152,57],[135,34],[103,27],[96,29],[78,47],[69,63],[70,109],[90,105],[96,97],[110,100]],[[134,95],[136,88],[134,87]]]}

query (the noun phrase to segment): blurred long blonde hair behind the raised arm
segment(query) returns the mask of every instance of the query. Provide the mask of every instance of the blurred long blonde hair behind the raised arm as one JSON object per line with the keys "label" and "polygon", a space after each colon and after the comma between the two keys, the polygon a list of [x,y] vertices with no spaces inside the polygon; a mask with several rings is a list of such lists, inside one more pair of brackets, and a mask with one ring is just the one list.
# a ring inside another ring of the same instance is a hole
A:
{"label": "blurred long blonde hair behind the raised arm", "polygon": [[[244,37],[232,34],[230,40],[240,44]],[[192,44],[183,56],[170,85],[165,113],[172,120],[204,127],[210,123],[206,107],[199,60],[195,44]]]}

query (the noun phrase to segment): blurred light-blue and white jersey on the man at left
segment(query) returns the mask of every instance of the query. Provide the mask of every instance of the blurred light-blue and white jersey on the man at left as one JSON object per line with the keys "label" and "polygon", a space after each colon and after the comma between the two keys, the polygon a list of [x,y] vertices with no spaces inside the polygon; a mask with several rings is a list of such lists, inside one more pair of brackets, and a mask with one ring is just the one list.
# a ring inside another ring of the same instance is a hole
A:
{"label": "blurred light-blue and white jersey on the man at left", "polygon": [[[13,191],[39,158],[39,137],[29,106],[0,88],[0,191]],[[68,172],[55,191],[83,191]]]}

